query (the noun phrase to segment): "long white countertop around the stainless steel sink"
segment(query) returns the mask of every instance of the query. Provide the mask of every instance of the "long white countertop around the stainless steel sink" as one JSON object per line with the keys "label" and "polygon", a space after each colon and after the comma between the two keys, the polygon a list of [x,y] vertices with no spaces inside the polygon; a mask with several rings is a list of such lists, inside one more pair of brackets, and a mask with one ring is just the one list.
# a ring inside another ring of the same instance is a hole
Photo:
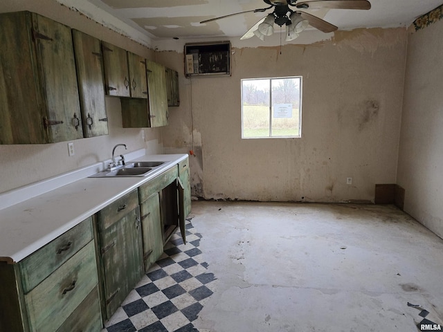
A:
{"label": "long white countertop around the stainless steel sink", "polygon": [[[58,180],[58,185],[62,185],[61,187],[55,185],[55,189],[1,208],[0,261],[7,261],[10,264],[21,261],[84,219],[105,208],[109,203],[177,165],[187,156],[187,154],[158,154],[133,159],[165,162],[144,177],[88,178],[87,176],[98,172],[97,167],[83,172],[70,172],[63,174],[65,179],[70,178],[69,183],[64,184]],[[75,173],[79,178],[72,178]],[[57,183],[57,178],[51,181],[54,185]],[[42,181],[41,185],[47,185],[47,181]],[[11,197],[17,196],[17,192],[24,193],[26,189],[23,187],[17,191],[7,192],[2,194],[3,197],[0,199],[8,201]],[[44,187],[41,189],[44,191]],[[39,183],[28,186],[29,190],[38,191]]]}

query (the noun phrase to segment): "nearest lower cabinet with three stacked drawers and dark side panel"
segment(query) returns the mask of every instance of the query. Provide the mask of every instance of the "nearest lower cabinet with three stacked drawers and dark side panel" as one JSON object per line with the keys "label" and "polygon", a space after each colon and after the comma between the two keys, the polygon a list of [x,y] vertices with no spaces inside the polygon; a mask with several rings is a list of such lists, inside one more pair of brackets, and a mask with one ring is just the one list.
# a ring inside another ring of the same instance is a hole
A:
{"label": "nearest lower cabinet with three stacked drawers and dark side panel", "polygon": [[2,262],[0,280],[0,331],[101,331],[91,218],[18,264]]}

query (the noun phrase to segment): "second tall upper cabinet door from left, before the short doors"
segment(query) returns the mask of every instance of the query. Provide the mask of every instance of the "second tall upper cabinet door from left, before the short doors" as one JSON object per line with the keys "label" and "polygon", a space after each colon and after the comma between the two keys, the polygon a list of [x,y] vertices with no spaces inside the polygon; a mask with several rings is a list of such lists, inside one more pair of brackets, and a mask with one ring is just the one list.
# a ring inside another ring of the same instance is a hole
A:
{"label": "second tall upper cabinet door from left, before the short doors", "polygon": [[72,31],[84,137],[108,134],[100,40]]}

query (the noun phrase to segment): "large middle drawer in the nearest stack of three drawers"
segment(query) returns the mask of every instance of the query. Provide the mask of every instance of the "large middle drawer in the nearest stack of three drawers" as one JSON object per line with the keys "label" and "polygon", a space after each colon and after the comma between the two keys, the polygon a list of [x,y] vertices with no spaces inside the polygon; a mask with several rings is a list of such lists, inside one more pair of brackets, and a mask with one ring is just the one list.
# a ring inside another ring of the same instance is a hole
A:
{"label": "large middle drawer in the nearest stack of three drawers", "polygon": [[30,331],[56,331],[98,284],[94,243],[24,296]]}

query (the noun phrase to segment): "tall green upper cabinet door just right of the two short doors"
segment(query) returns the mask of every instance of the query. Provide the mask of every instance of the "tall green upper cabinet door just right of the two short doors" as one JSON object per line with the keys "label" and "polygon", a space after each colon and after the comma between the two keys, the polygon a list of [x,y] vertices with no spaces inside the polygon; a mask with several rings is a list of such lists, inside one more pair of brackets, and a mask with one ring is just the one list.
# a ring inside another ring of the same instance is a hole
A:
{"label": "tall green upper cabinet door just right of the two short doors", "polygon": [[146,70],[150,104],[150,127],[162,127],[168,124],[165,66],[146,60]]}

